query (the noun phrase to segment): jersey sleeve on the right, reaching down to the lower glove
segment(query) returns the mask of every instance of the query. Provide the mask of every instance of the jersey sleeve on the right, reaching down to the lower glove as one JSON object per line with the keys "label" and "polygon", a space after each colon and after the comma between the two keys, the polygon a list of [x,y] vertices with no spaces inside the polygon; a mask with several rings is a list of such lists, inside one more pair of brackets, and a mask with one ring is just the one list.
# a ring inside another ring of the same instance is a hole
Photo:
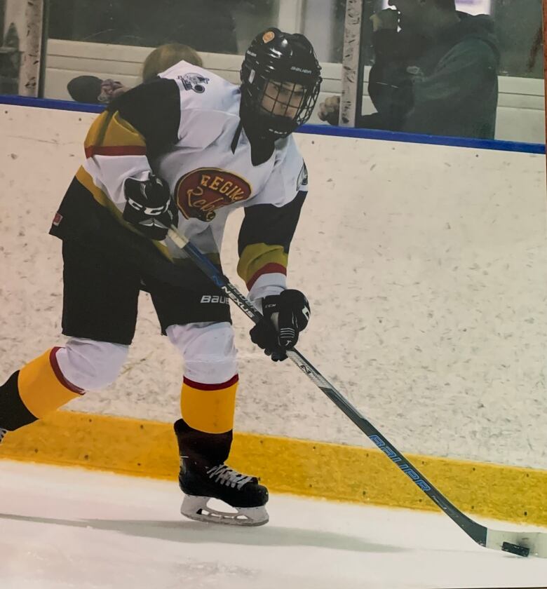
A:
{"label": "jersey sleeve on the right, reaching down to the lower glove", "polygon": [[302,156],[289,150],[290,163],[271,175],[265,189],[245,208],[238,239],[238,275],[252,301],[285,290],[288,255],[308,191]]}

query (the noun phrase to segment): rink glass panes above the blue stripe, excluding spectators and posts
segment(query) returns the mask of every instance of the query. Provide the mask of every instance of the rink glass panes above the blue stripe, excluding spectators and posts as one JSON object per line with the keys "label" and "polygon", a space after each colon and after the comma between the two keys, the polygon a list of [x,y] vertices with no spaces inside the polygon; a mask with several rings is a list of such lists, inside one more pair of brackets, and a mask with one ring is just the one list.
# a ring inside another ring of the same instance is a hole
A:
{"label": "rink glass panes above the blue stripe, excluding spectators and posts", "polygon": [[[4,94],[25,94],[18,83],[25,4],[0,0],[0,31],[4,32],[0,92]],[[374,112],[367,95],[374,62],[370,16],[387,4],[388,0],[363,0],[362,4],[360,114]],[[487,13],[495,22],[500,49],[495,138],[544,142],[541,0],[457,0],[457,8]],[[194,48],[205,68],[238,83],[241,55],[248,43],[258,31],[274,25],[303,32],[316,47],[324,82],[310,123],[319,123],[319,104],[341,92],[345,18],[346,0],[157,0],[153,9],[148,0],[47,0],[43,11],[46,59],[41,59],[41,83],[34,95],[72,100],[67,84],[79,75],[112,79],[130,88],[142,81],[147,55],[164,43]],[[88,101],[85,95],[84,100]]]}

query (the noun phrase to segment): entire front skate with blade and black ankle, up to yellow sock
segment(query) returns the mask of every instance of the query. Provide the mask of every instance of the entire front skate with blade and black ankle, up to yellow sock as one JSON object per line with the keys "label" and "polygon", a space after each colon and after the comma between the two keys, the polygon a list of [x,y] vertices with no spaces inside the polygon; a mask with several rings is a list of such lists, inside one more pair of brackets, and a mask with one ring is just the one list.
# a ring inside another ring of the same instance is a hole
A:
{"label": "entire front skate with blade and black ankle, up to yellow sock", "polygon": [[[256,477],[238,473],[224,464],[231,445],[231,432],[200,432],[180,419],[175,423],[175,433],[180,454],[179,486],[184,493],[182,515],[201,522],[240,526],[260,526],[268,522],[264,507],[268,489],[259,485]],[[220,499],[235,511],[208,507],[210,499]]]}

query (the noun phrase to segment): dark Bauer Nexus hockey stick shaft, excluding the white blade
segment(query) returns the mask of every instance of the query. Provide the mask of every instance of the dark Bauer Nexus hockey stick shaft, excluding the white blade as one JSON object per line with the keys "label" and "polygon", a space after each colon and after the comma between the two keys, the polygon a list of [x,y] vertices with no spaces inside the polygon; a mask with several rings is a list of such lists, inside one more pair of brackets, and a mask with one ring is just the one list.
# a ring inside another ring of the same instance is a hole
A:
{"label": "dark Bauer Nexus hockey stick shaft, excluding the white blade", "polygon": [[[229,298],[248,316],[252,321],[258,323],[262,319],[261,313],[258,309],[239,292],[239,290],[230,283],[229,279],[217,269],[217,266],[210,262],[195,245],[190,243],[188,239],[182,236],[175,228],[171,228],[168,236],[173,242],[198,266],[205,276],[212,280],[217,287],[223,290]],[[354,424],[367,435],[377,447],[384,452],[386,456],[395,463],[403,473],[407,475],[410,480],[414,482],[421,491],[423,491],[433,503],[435,503],[441,510],[443,510],[448,517],[450,517],[461,529],[468,534],[475,542],[481,546],[486,546],[487,528],[471,520],[470,517],[461,513],[461,511],[454,506],[448,499],[429,482],[420,471],[412,465],[412,463],[405,458],[405,456],[396,449],[384,435],[382,435],[377,428],[375,428],[370,421],[365,419],[360,414],[356,407],[344,398],[344,396],[337,391],[334,385],[330,384],[323,374],[321,374],[311,363],[302,356],[302,354],[295,348],[287,351],[287,356],[292,360],[299,369],[306,374],[313,384],[320,388],[325,395],[339,408],[342,412],[353,421]]]}

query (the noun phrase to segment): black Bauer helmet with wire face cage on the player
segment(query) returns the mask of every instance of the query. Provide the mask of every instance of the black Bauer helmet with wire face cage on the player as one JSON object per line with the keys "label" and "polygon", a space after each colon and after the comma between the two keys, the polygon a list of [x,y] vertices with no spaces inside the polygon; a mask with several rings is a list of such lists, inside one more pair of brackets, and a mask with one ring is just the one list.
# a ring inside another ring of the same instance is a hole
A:
{"label": "black Bauer helmet with wire face cage on the player", "polygon": [[254,133],[287,137],[311,116],[321,67],[302,34],[276,28],[258,34],[241,65],[241,120]]}

